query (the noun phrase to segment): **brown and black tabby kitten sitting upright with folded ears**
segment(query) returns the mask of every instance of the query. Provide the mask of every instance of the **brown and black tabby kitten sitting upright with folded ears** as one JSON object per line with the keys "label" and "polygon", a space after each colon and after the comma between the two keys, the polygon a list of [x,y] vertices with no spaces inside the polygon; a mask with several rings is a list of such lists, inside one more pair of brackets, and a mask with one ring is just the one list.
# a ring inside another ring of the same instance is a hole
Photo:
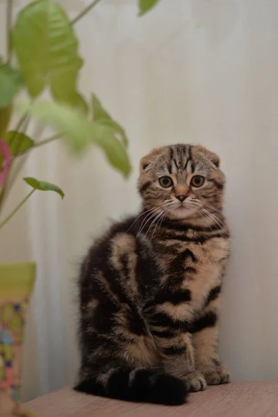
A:
{"label": "brown and black tabby kitten sitting upright with folded ears", "polygon": [[218,354],[229,256],[219,162],[191,145],[142,158],[142,211],[114,224],[81,267],[77,391],[183,404],[189,391],[229,382]]}

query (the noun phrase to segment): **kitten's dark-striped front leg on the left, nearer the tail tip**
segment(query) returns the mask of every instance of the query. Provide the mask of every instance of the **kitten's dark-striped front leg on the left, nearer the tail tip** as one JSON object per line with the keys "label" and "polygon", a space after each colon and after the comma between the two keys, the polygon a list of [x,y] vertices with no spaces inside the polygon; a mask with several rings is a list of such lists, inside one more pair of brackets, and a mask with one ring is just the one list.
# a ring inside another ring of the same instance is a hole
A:
{"label": "kitten's dark-striped front leg on the left, nearer the tail tip", "polygon": [[[168,304],[168,303],[167,303]],[[176,308],[167,313],[161,311],[161,304],[147,309],[149,330],[163,363],[163,369],[184,380],[188,391],[202,391],[206,379],[195,368],[195,352],[192,335],[188,332],[188,321],[177,319]]]}

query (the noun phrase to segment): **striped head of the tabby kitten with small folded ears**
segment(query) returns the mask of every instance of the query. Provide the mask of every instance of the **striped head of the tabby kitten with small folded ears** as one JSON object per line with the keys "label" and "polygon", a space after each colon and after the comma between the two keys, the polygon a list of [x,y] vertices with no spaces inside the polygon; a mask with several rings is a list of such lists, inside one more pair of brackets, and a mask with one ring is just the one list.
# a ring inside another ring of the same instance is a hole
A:
{"label": "striped head of the tabby kitten with small folded ears", "polygon": [[220,159],[201,146],[154,149],[140,161],[138,188],[147,210],[167,218],[204,217],[222,210]]}

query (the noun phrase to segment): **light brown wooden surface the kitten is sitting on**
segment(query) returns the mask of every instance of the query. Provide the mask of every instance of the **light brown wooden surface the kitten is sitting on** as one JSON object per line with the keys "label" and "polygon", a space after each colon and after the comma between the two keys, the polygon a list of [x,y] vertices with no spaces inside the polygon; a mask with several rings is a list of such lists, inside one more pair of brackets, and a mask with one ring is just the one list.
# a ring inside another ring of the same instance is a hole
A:
{"label": "light brown wooden surface the kitten is sitting on", "polygon": [[179,407],[90,397],[65,388],[24,404],[38,417],[278,417],[278,382],[233,382],[190,394]]}

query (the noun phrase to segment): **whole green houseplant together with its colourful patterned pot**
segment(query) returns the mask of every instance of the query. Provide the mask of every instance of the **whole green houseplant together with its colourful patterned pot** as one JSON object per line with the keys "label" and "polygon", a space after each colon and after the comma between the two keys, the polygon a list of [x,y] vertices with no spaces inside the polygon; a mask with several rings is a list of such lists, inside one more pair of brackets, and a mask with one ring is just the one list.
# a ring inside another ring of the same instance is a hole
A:
{"label": "whole green houseplant together with its colourful patterned pot", "polygon": [[[24,156],[36,147],[61,138],[74,154],[80,154],[90,145],[97,145],[115,169],[124,177],[129,175],[131,164],[124,129],[95,95],[88,104],[78,90],[83,60],[74,25],[99,1],[92,1],[70,21],[56,1],[30,2],[14,17],[13,0],[6,0],[7,49],[4,58],[0,55],[0,239],[1,228],[35,190],[51,190],[64,197],[63,191],[52,183],[24,178],[31,186],[30,192],[2,218],[3,205],[24,164]],[[156,3],[158,0],[139,0],[140,15]],[[42,101],[45,90],[50,93],[49,101]],[[15,99],[22,97],[22,92],[28,102],[16,104]],[[14,127],[11,120],[17,112],[22,115]],[[33,116],[52,126],[56,133],[42,140],[28,136]],[[34,263],[0,265],[1,416],[24,415],[19,410],[20,359],[24,316],[34,281]]]}

